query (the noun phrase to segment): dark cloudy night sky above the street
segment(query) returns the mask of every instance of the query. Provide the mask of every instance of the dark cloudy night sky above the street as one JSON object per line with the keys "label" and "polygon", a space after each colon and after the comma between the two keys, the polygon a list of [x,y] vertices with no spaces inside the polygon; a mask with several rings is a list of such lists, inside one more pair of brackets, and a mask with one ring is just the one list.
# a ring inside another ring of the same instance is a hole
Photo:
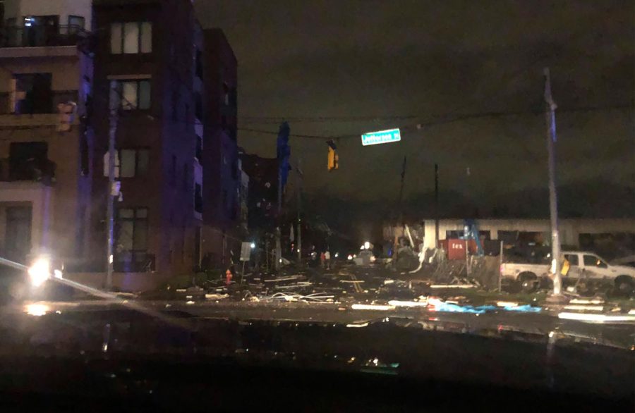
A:
{"label": "dark cloudy night sky above the street", "polygon": [[[195,5],[202,25],[222,28],[238,58],[239,128],[276,131],[282,118],[289,119],[291,156],[302,157],[306,190],[314,195],[393,202],[404,155],[406,198],[433,190],[435,162],[444,190],[478,199],[485,210],[495,197],[545,187],[545,117],[536,114],[543,108],[544,66],[551,68],[562,109],[560,183],[635,187],[633,1]],[[413,128],[489,111],[527,113]],[[352,116],[364,119],[346,119]],[[335,119],[315,121],[319,117]],[[362,147],[359,137],[339,140],[340,168],[332,173],[325,140],[293,136],[409,126],[398,144]],[[239,130],[238,139],[248,152],[275,154],[274,135]]]}

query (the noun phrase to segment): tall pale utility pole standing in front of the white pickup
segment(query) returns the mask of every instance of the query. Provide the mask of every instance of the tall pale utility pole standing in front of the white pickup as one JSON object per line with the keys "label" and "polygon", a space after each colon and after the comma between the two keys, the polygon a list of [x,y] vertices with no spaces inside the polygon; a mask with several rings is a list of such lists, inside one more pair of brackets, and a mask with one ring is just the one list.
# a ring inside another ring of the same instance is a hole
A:
{"label": "tall pale utility pole standing in front of the white pickup", "polygon": [[547,121],[547,152],[549,161],[549,213],[551,218],[551,272],[553,274],[553,294],[556,300],[562,298],[562,278],[560,278],[560,233],[558,230],[558,201],[555,184],[555,109],[557,105],[551,96],[549,68],[545,74],[545,119]]}

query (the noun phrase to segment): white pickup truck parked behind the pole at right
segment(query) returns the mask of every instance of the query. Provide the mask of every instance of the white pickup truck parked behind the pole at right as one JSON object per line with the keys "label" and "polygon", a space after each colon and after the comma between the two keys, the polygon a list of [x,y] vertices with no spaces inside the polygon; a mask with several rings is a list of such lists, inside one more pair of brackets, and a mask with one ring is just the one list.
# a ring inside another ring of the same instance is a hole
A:
{"label": "white pickup truck parked behind the pole at right", "polygon": [[[565,251],[562,254],[570,266],[567,276],[562,277],[563,281],[578,280],[581,277],[612,281],[620,295],[628,296],[635,292],[635,268],[610,265],[593,252]],[[519,281],[525,291],[535,289],[541,279],[548,278],[549,270],[548,264],[504,263],[500,266],[502,278]]]}

